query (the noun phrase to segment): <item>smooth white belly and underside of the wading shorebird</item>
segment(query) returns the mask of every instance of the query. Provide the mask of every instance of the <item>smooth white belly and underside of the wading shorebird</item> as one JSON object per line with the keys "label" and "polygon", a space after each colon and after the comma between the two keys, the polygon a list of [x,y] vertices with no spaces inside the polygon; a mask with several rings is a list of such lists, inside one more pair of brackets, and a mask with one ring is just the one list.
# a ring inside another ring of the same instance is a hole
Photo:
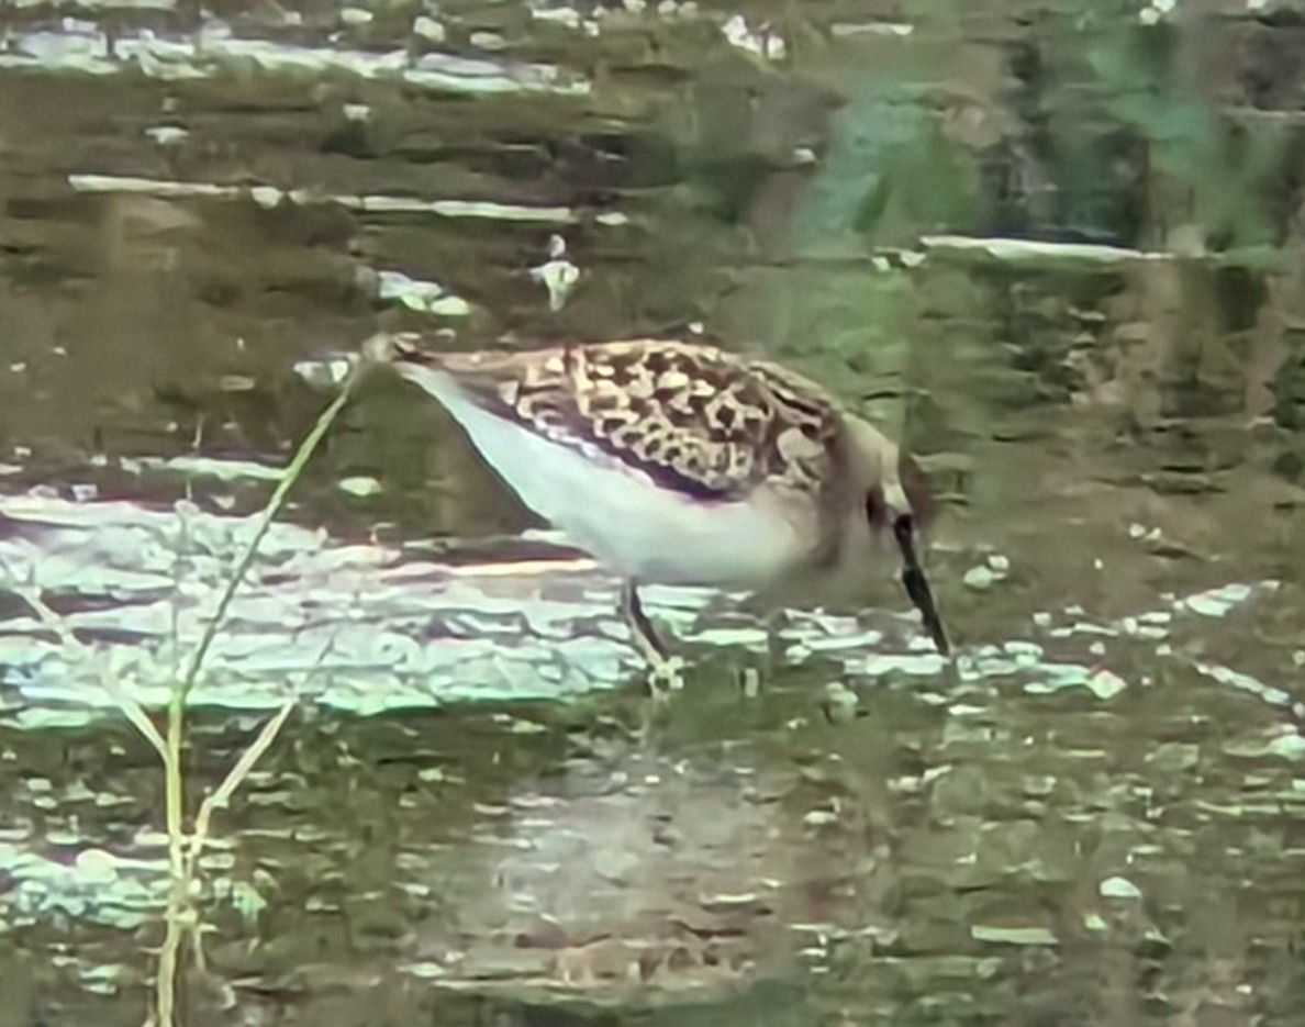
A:
{"label": "smooth white belly and underside of the wading shorebird", "polygon": [[412,365],[401,371],[444,403],[522,502],[622,577],[765,589],[810,551],[813,539],[778,502],[683,497],[615,458],[581,454],[487,412],[448,375]]}

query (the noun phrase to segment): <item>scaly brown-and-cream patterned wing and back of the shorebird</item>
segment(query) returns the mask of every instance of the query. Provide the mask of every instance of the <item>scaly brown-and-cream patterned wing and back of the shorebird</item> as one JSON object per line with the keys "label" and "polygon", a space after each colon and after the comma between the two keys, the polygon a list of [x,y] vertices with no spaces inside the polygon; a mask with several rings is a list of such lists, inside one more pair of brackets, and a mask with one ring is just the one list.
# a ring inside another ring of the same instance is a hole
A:
{"label": "scaly brown-and-cream patterned wing and back of the shorebird", "polygon": [[818,487],[837,458],[838,407],[818,386],[713,347],[634,339],[437,363],[480,407],[697,498],[775,478]]}

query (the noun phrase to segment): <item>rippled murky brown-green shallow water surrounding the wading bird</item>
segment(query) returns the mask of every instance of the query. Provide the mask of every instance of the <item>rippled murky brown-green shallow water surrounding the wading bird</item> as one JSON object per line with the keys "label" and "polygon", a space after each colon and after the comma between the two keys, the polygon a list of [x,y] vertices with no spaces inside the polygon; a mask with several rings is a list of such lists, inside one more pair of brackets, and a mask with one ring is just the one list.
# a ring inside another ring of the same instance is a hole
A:
{"label": "rippled murky brown-green shallow water surrounding the wading bird", "polygon": [[1292,1024],[1284,4],[0,5],[0,1024],[141,1023],[161,709],[378,329],[702,331],[921,457],[885,589],[616,582],[368,382],[192,694],[194,1023]]}

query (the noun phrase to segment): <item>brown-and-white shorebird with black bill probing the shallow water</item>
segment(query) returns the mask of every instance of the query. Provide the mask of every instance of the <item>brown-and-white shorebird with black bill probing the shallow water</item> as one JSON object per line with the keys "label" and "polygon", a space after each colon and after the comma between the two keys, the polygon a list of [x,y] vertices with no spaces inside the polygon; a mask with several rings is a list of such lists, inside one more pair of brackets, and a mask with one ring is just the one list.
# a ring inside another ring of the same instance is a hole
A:
{"label": "brown-and-white shorebird with black bill probing the shallow water", "polygon": [[856,603],[883,575],[886,538],[947,654],[916,555],[924,474],[800,375],[668,339],[454,354],[403,333],[363,354],[442,403],[526,506],[620,575],[654,692],[677,686],[683,660],[641,586],[737,590],[770,608]]}

